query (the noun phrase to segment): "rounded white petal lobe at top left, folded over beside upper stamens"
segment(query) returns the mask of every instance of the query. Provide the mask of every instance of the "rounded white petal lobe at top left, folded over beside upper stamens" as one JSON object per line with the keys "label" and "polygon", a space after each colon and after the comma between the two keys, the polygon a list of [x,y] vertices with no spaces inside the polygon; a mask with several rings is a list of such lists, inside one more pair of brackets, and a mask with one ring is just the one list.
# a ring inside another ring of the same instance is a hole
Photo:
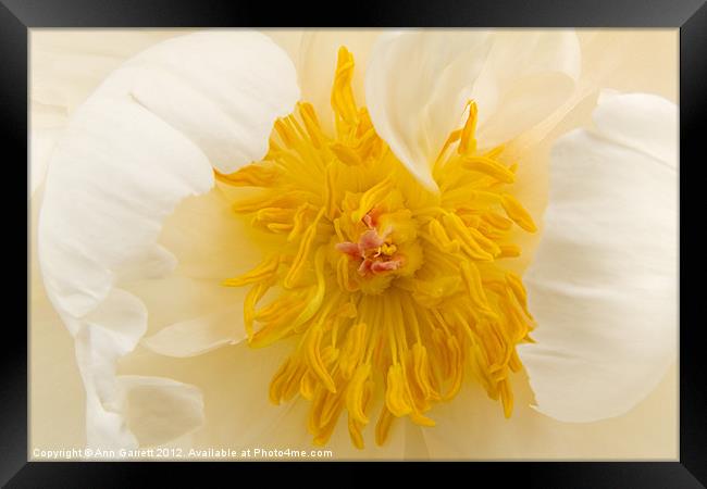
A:
{"label": "rounded white petal lobe at top left, folded over beside upper stamens", "polygon": [[[259,33],[177,37],[122,70],[128,95],[191,139],[223,173],[261,159],[275,118],[299,99],[289,57]],[[121,82],[113,80],[119,89]]]}

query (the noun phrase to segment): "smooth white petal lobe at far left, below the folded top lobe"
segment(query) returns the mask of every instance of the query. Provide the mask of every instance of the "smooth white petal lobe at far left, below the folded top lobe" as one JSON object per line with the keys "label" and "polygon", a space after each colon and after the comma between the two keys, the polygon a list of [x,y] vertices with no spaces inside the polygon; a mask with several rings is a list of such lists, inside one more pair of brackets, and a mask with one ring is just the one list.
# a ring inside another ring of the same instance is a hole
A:
{"label": "smooth white petal lobe at far left, below the folded top lobe", "polygon": [[55,306],[80,317],[108,294],[115,271],[145,259],[174,205],[206,192],[213,175],[194,143],[142,106],[95,98],[55,148],[46,185],[45,283]]}

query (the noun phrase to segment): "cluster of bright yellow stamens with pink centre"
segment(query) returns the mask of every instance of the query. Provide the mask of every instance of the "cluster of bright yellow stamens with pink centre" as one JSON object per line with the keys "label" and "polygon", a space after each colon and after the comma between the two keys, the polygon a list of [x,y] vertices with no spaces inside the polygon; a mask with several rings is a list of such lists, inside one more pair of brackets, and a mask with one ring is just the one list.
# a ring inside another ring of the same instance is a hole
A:
{"label": "cluster of bright yellow stamens with pink centre", "polygon": [[[434,426],[435,404],[467,380],[508,417],[511,373],[522,367],[516,346],[532,341],[533,329],[522,279],[504,267],[521,253],[514,226],[536,229],[512,195],[517,164],[501,160],[503,146],[479,150],[470,101],[463,127],[431,162],[439,192],[429,192],[357,105],[354,68],[342,48],[331,97],[335,134],[300,102],[275,122],[263,161],[216,174],[258,190],[234,203],[241,215],[234,218],[275,250],[223,281],[250,287],[244,322],[251,347],[296,339],[270,399],[308,400],[315,444],[327,442],[346,413],[357,448],[374,401],[383,404],[375,423],[383,444],[398,417]],[[261,304],[265,297],[274,299]]]}

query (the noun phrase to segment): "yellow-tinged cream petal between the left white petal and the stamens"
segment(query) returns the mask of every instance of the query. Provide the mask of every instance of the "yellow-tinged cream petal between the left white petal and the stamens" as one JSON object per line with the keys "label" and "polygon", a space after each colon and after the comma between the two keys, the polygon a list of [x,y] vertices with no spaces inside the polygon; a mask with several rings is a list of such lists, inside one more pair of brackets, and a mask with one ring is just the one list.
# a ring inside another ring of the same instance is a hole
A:
{"label": "yellow-tinged cream petal between the left white petal and the stamens", "polygon": [[175,254],[175,273],[128,287],[153,311],[150,331],[157,334],[142,341],[145,347],[190,356],[245,338],[241,304],[247,288],[221,283],[252,268],[268,249],[256,244],[256,231],[232,206],[216,186],[182,201],[164,222],[159,241]]}

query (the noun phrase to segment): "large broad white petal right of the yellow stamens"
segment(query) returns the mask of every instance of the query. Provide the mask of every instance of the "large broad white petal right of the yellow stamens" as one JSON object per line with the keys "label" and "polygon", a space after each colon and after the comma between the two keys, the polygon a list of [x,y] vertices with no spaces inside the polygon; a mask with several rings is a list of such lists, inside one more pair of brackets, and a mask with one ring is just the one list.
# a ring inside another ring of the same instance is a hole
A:
{"label": "large broad white petal right of the yellow stamens", "polygon": [[653,98],[618,97],[595,112],[597,134],[555,146],[545,230],[524,279],[537,343],[519,353],[537,409],[560,421],[623,414],[675,361],[677,148],[617,122],[655,113]]}

